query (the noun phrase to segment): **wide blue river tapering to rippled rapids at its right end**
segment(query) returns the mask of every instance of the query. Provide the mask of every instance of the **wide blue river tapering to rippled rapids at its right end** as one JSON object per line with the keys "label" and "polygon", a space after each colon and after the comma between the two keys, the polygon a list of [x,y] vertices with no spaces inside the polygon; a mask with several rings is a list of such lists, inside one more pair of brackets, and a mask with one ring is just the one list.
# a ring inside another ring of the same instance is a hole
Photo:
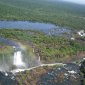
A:
{"label": "wide blue river tapering to rippled rapids at its right end", "polygon": [[40,23],[31,21],[0,21],[0,28],[40,30],[47,34],[52,33],[56,35],[70,32],[70,30],[67,28],[56,26],[51,23]]}

